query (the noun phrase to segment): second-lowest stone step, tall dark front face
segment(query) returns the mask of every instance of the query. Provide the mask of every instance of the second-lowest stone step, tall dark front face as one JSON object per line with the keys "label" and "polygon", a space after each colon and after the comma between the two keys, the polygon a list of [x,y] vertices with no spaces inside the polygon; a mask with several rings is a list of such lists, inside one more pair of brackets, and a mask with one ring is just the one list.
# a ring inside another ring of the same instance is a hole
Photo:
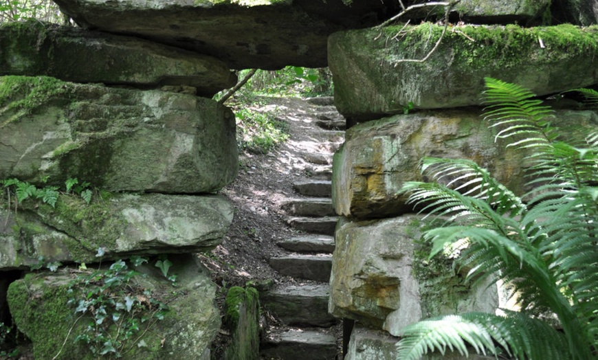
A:
{"label": "second-lowest stone step, tall dark front face", "polygon": [[330,286],[287,285],[260,293],[260,304],[285,325],[328,328],[338,319],[328,313]]}

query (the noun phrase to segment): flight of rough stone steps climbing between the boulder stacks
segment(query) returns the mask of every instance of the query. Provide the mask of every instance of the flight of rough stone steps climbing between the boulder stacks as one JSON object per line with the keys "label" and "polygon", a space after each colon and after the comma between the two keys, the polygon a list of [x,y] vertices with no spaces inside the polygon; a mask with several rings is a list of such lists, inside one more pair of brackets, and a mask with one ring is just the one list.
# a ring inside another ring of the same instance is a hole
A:
{"label": "flight of rough stone steps climbing between the boulder stacks", "polygon": [[[260,295],[260,302],[281,326],[270,326],[261,344],[262,359],[337,359],[339,320],[328,313],[329,279],[337,216],[331,200],[333,151],[342,143],[344,119],[331,98],[318,98],[314,123],[320,126],[313,137],[335,139],[330,152],[305,153],[311,164],[309,177],[296,181],[296,196],[283,204],[287,223],[298,235],[278,246],[285,256],[269,259],[269,265],[297,284],[280,285]],[[339,137],[339,135],[341,135]]]}

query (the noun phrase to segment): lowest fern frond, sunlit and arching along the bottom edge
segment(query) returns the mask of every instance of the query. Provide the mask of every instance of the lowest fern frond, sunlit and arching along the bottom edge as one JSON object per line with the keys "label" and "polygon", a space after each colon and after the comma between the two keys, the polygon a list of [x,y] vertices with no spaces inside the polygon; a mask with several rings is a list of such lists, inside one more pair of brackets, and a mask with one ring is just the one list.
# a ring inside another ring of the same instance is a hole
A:
{"label": "lowest fern frond, sunlit and arching along the bottom edge", "polygon": [[445,315],[406,326],[403,339],[397,344],[397,359],[419,359],[434,350],[443,355],[447,350],[456,350],[467,356],[468,347],[478,354],[494,356],[502,348],[516,359],[571,359],[566,339],[554,328],[517,313],[508,315]]}

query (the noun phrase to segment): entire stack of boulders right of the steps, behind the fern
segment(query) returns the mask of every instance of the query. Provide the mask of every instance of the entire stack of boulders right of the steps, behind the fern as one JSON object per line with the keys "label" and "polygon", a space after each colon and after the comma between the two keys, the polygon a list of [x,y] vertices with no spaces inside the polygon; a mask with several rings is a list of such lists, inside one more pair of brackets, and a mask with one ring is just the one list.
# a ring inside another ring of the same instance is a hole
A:
{"label": "entire stack of boulders right of the steps, behind the fern", "polygon": [[[462,1],[456,9],[468,9],[464,19],[512,21],[515,3],[521,16],[547,9],[541,1]],[[568,142],[598,128],[597,111],[559,100],[561,91],[598,84],[595,25],[452,26],[427,60],[411,61],[427,56],[442,31],[400,24],[329,38],[335,104],[352,125],[335,154],[332,184],[344,218],[335,232],[329,312],[355,320],[346,359],[395,359],[403,326],[498,307],[496,286],[464,282],[449,254],[428,258],[422,234],[437,225],[434,216],[415,215],[398,194],[408,181],[430,180],[420,172],[423,157],[469,159],[515,194],[530,190],[529,153],[507,148],[483,119],[485,77],[550,96],[551,124]]]}

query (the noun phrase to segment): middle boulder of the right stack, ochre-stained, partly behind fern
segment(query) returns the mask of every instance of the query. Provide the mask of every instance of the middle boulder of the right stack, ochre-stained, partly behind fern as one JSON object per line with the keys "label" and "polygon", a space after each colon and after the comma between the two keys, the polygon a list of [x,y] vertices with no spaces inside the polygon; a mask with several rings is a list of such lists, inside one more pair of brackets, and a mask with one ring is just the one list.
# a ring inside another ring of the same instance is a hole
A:
{"label": "middle boulder of the right stack, ochre-stained, partly behind fern", "polygon": [[[478,108],[419,111],[353,126],[333,160],[332,199],[337,214],[376,218],[412,210],[397,192],[406,181],[425,181],[422,157],[470,159],[518,195],[525,184],[526,153],[494,141]],[[560,110],[553,121],[565,139],[579,139],[598,126],[594,111]]]}

